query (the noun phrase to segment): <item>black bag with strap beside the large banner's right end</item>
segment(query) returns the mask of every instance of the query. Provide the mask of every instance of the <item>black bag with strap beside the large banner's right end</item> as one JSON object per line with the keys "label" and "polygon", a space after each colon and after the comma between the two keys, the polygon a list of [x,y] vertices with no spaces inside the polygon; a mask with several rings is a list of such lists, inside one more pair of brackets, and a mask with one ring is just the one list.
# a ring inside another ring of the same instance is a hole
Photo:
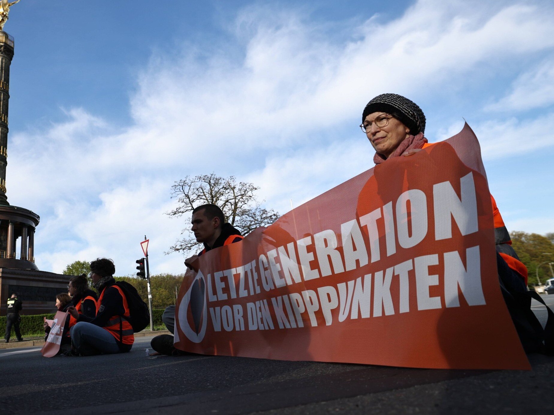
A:
{"label": "black bag with strap beside the large banner's right end", "polygon": [[[554,312],[535,291],[521,290],[517,287],[514,282],[521,277],[512,271],[498,253],[496,254],[496,265],[500,290],[525,352],[554,355]],[[548,319],[544,329],[531,310],[531,298],[546,307]]]}

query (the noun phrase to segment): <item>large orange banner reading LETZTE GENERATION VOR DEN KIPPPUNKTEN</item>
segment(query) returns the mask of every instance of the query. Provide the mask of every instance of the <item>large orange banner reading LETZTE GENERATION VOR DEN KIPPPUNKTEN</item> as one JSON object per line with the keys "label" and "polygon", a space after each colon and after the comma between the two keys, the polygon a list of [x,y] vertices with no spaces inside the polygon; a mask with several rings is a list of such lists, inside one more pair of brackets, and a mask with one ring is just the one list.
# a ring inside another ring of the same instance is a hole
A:
{"label": "large orange banner reading LETZTE GENERATION VOR DEN KIPPPUNKTEN", "polygon": [[201,354],[444,369],[530,369],[496,271],[468,125],[199,257],[175,346]]}

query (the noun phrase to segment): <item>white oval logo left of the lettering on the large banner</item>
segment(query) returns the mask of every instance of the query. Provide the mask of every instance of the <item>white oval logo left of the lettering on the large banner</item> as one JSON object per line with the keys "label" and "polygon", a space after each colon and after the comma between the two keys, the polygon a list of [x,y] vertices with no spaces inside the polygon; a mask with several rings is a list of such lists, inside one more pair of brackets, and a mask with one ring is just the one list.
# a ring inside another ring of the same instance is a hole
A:
{"label": "white oval logo left of the lettering on the large banner", "polygon": [[179,325],[188,340],[200,343],[206,335],[207,324],[206,279],[202,271],[198,271],[191,287],[179,304]]}

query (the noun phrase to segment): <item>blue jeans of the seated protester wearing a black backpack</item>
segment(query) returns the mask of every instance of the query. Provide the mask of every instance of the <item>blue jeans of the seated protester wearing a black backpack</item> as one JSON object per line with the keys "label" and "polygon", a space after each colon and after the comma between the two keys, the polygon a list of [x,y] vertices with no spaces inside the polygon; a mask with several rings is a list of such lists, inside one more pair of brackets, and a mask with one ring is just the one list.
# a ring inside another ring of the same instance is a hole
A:
{"label": "blue jeans of the seated protester wearing a black backpack", "polygon": [[86,351],[88,355],[120,352],[117,340],[109,331],[85,321],[79,321],[71,328],[71,340],[75,349]]}

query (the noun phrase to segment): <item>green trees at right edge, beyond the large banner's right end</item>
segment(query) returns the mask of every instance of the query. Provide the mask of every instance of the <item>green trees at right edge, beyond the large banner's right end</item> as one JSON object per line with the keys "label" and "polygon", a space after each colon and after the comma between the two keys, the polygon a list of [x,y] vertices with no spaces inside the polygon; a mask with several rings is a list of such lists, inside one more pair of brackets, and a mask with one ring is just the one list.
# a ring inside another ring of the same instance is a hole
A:
{"label": "green trees at right edge, beyond the large banner's right end", "polygon": [[510,236],[512,247],[529,271],[530,287],[538,284],[537,274],[542,284],[547,279],[554,278],[548,266],[548,262],[554,263],[554,233],[543,236],[515,231]]}

